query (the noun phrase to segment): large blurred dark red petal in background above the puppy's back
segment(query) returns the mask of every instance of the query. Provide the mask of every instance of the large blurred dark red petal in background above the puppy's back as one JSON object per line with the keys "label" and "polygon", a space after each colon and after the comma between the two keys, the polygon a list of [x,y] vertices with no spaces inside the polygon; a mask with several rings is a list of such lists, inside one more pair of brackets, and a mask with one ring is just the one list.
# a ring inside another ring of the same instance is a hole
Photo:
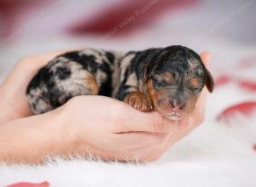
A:
{"label": "large blurred dark red petal in background above the puppy's back", "polygon": [[[84,17],[83,20],[79,21],[77,26],[73,26],[70,31],[74,34],[99,33],[103,35],[111,32],[115,33],[113,36],[116,36],[116,34],[123,34],[131,32],[132,30],[135,31],[144,25],[148,25],[152,23],[153,19],[166,11],[170,13],[174,9],[187,7],[197,2],[199,1],[125,0],[101,10],[99,14],[93,16],[92,20],[88,20],[87,16]],[[120,26],[120,24],[124,22],[125,25]]]}

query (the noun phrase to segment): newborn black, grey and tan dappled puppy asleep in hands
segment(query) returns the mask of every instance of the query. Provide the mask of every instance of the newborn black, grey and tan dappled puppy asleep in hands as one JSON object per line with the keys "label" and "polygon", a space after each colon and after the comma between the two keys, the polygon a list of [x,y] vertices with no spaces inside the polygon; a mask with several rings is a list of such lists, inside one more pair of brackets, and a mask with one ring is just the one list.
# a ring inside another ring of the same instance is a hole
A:
{"label": "newborn black, grey and tan dappled puppy asleep in hands", "polygon": [[34,114],[54,110],[77,95],[105,95],[180,120],[195,110],[205,85],[212,92],[211,73],[198,54],[183,46],[125,54],[86,48],[49,61],[26,95]]}

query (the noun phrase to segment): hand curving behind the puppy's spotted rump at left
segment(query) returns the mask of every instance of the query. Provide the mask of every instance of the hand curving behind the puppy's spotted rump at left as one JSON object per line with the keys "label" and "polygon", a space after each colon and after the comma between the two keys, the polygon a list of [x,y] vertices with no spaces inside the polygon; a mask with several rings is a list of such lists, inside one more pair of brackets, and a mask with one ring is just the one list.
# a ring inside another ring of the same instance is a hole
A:
{"label": "hand curving behind the puppy's spotted rump at left", "polygon": [[64,51],[20,59],[0,85],[0,123],[32,115],[26,99],[26,87],[42,66],[61,53]]}

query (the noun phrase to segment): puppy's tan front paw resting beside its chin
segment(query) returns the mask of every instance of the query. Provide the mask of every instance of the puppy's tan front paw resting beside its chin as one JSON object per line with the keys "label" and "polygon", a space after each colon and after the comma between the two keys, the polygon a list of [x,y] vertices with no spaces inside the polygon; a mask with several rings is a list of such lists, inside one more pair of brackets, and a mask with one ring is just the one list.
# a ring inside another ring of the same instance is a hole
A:
{"label": "puppy's tan front paw resting beside its chin", "polygon": [[139,111],[152,111],[153,105],[149,97],[140,92],[133,92],[125,97],[125,103]]}

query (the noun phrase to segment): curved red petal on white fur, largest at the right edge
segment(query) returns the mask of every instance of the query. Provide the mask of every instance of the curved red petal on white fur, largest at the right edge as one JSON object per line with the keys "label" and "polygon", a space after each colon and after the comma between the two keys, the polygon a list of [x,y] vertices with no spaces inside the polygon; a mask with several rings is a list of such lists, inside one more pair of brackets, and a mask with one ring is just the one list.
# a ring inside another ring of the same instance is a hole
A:
{"label": "curved red petal on white fur, largest at the right edge", "polygon": [[248,101],[237,105],[231,105],[218,115],[217,120],[227,121],[230,116],[233,116],[236,113],[249,116],[253,113],[253,111],[256,111],[256,101]]}

